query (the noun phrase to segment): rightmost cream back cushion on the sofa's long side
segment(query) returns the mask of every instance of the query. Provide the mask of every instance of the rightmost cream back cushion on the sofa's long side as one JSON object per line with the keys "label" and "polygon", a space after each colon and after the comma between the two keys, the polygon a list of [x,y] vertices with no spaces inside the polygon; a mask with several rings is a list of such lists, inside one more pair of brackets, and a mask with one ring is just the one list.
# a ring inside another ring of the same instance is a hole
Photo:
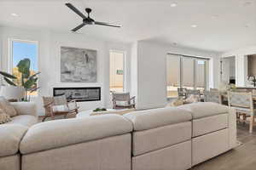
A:
{"label": "rightmost cream back cushion on the sofa's long side", "polygon": [[177,108],[190,111],[193,119],[200,119],[206,116],[227,114],[229,107],[211,102],[198,102],[189,105],[181,105]]}

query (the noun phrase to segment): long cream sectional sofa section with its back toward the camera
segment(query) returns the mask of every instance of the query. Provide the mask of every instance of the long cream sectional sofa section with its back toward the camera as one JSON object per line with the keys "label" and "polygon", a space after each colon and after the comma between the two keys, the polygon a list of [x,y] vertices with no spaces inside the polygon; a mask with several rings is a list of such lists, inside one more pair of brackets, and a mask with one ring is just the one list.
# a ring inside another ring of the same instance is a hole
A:
{"label": "long cream sectional sofa section with its back toward the camera", "polygon": [[236,147],[236,114],[198,103],[42,122],[17,137],[1,170],[185,170]]}

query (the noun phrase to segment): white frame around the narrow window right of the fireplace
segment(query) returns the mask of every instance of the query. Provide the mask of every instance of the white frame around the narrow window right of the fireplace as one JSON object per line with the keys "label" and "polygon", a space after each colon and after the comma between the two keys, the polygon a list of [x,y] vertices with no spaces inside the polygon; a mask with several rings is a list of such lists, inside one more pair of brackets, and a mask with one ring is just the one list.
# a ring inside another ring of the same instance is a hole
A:
{"label": "white frame around the narrow window right of the fireplace", "polygon": [[123,93],[127,92],[127,52],[125,50],[120,50],[120,49],[110,49],[109,50],[109,62],[108,62],[108,74],[109,74],[109,78],[108,78],[108,87],[109,87],[109,92],[111,92],[110,90],[110,56],[111,53],[118,53],[118,54],[123,54]]}

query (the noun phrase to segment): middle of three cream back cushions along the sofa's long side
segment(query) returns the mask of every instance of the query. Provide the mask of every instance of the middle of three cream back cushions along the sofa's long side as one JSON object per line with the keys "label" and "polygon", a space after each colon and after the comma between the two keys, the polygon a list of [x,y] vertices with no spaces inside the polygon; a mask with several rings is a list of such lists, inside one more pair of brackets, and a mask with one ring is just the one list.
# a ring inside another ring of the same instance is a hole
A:
{"label": "middle of three cream back cushions along the sofa's long side", "polygon": [[131,120],[135,131],[147,130],[180,122],[188,122],[192,118],[189,111],[174,107],[134,111],[127,113],[124,116]]}

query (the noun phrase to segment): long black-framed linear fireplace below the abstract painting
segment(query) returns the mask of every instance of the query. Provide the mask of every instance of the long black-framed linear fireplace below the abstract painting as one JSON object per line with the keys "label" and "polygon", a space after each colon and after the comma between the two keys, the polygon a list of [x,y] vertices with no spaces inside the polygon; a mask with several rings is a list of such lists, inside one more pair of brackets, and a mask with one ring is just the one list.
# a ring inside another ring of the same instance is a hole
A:
{"label": "long black-framed linear fireplace below the abstract painting", "polygon": [[101,100],[101,88],[53,88],[53,95],[66,95],[67,101],[96,101]]}

